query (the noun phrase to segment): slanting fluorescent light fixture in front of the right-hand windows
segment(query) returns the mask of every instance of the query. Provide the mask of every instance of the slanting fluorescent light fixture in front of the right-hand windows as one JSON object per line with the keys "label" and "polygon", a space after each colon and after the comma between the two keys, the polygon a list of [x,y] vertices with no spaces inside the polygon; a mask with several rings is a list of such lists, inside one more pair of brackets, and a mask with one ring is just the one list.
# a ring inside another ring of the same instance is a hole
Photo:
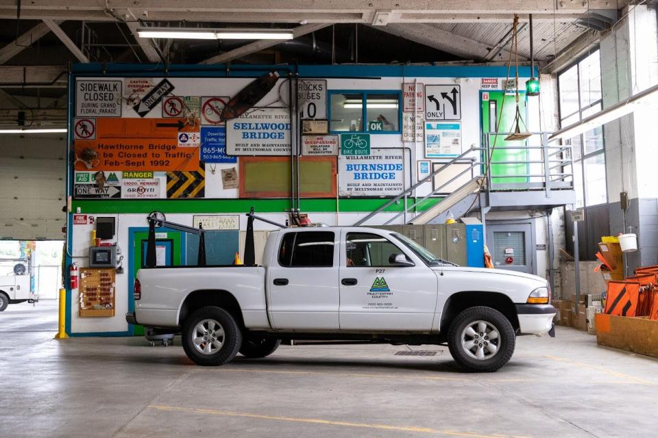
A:
{"label": "slanting fluorescent light fixture in front of the right-hand windows", "polygon": [[[610,123],[611,121],[626,116],[627,114],[631,114],[642,108],[642,105],[651,103],[652,99],[657,99],[657,92],[658,85],[647,88],[646,90],[629,97],[629,99],[626,99],[625,101],[616,103],[611,107],[607,107],[605,110],[592,114],[592,116],[583,118],[583,120],[579,122],[555,131],[550,137],[548,137],[548,141],[552,142],[560,138],[572,138],[587,131],[592,131],[592,129],[599,127],[600,125]],[[655,104],[656,100],[654,100],[653,103]]]}

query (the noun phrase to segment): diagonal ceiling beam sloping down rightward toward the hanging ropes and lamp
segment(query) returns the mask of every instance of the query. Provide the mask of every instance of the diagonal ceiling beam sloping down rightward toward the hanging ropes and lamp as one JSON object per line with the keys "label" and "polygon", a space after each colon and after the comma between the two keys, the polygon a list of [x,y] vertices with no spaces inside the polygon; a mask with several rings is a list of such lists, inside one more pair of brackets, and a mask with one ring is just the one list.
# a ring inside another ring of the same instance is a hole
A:
{"label": "diagonal ceiling beam sloping down rightward toward the hanging ropes and lamp", "polygon": [[[423,44],[434,49],[451,53],[467,60],[484,60],[489,57],[491,61],[507,61],[509,60],[509,51],[500,49],[498,54],[490,56],[491,45],[485,44],[480,41],[466,38],[465,36],[453,34],[450,31],[441,29],[430,24],[416,24],[413,26],[406,26],[401,24],[389,24],[387,26],[377,26],[375,29],[388,32],[395,36],[405,38],[419,44]],[[519,60],[525,60],[525,57],[520,56]]]}

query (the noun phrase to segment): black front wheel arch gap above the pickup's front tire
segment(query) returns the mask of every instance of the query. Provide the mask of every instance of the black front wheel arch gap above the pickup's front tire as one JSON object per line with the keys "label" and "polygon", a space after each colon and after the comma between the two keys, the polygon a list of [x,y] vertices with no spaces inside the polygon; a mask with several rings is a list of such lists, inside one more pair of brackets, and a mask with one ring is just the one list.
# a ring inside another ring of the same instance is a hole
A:
{"label": "black front wheel arch gap above the pickup's front tire", "polygon": [[452,319],[461,311],[474,306],[486,306],[496,309],[505,315],[515,330],[519,329],[516,307],[509,296],[499,292],[464,291],[450,295],[446,300],[446,304],[443,305],[439,333],[446,335]]}

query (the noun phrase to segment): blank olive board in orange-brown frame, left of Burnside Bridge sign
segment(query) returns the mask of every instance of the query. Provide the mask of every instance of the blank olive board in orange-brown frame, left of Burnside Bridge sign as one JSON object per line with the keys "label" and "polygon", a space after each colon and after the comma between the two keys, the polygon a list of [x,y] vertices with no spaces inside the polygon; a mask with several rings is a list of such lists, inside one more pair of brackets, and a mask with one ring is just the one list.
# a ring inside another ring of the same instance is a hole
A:
{"label": "blank olive board in orange-brown frame, left of Burnside Bridge sign", "polygon": [[[336,157],[300,157],[300,196],[334,198]],[[290,157],[240,157],[241,198],[290,196]]]}

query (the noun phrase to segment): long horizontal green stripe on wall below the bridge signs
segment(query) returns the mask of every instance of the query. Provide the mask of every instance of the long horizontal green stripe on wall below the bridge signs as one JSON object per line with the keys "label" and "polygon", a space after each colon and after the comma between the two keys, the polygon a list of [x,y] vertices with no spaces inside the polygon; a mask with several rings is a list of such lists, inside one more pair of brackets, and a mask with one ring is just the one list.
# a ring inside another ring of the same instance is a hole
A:
{"label": "long horizontal green stripe on wall below the bridge signs", "polygon": [[[408,198],[408,205],[413,204],[413,198]],[[374,211],[385,204],[388,199],[345,198],[339,200],[341,213]],[[417,208],[424,211],[441,201],[431,198]],[[247,213],[254,207],[258,213],[282,213],[290,208],[289,199],[154,199],[154,200],[75,200],[73,211],[80,207],[86,214],[117,214],[117,213],[150,213],[158,210],[163,213]],[[335,199],[302,199],[300,205],[303,213],[334,213]],[[389,205],[385,211],[402,211],[402,203]]]}

